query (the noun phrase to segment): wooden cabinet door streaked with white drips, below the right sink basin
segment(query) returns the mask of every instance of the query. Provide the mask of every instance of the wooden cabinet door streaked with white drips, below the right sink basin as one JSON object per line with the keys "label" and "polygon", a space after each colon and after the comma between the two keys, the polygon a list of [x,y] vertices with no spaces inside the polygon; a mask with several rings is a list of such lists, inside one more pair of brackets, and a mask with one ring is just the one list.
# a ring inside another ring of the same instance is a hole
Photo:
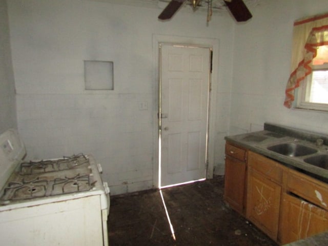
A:
{"label": "wooden cabinet door streaked with white drips, below the right sink basin", "polygon": [[328,212],[289,194],[282,195],[279,239],[282,244],[328,230]]}

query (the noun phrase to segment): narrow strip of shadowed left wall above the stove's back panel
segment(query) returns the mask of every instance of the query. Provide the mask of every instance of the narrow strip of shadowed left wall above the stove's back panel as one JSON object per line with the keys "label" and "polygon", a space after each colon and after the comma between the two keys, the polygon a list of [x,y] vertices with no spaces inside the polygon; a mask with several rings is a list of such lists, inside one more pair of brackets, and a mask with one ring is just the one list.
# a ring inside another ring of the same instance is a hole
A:
{"label": "narrow strip of shadowed left wall above the stove's back panel", "polygon": [[0,133],[17,128],[15,100],[7,3],[0,0]]}

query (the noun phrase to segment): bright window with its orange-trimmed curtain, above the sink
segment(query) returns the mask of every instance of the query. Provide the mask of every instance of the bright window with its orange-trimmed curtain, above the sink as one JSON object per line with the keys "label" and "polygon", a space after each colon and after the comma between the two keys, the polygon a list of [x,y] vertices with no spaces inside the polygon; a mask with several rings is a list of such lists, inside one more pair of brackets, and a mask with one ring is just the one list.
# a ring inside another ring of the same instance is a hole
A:
{"label": "bright window with its orange-trimmed curtain, above the sink", "polygon": [[294,22],[291,74],[285,89],[285,107],[328,111],[327,47],[328,13]]}

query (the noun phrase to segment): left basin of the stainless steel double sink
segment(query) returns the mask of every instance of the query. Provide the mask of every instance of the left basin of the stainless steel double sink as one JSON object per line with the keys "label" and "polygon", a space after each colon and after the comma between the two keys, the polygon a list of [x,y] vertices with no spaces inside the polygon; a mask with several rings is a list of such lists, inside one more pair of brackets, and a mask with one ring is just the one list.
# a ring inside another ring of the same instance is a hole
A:
{"label": "left basin of the stainless steel double sink", "polygon": [[316,149],[306,147],[300,144],[295,144],[294,142],[289,144],[279,144],[270,146],[267,149],[285,156],[304,156],[317,152]]}

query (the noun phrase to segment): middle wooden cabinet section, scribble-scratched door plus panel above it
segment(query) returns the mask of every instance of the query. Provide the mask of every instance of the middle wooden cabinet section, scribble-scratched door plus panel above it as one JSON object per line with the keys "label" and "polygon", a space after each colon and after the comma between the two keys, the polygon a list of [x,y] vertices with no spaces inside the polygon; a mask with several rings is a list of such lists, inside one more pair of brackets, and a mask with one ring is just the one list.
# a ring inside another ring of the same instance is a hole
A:
{"label": "middle wooden cabinet section, scribble-scratched door plus panel above it", "polygon": [[277,240],[283,167],[262,155],[248,155],[247,218]]}

